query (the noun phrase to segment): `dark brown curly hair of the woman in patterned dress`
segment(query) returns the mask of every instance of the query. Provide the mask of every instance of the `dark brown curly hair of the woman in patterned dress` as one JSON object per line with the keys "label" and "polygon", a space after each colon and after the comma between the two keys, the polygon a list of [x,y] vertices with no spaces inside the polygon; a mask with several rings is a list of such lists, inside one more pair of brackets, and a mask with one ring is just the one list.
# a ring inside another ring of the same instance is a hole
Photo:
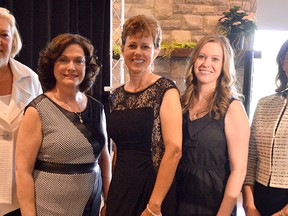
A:
{"label": "dark brown curly hair of the woman in patterned dress", "polygon": [[88,92],[94,84],[101,64],[97,62],[98,57],[94,54],[92,43],[79,34],[65,33],[52,39],[39,54],[38,76],[44,91],[49,91],[55,87],[54,64],[63,51],[72,44],[81,46],[85,54],[85,77],[79,86],[79,90]]}

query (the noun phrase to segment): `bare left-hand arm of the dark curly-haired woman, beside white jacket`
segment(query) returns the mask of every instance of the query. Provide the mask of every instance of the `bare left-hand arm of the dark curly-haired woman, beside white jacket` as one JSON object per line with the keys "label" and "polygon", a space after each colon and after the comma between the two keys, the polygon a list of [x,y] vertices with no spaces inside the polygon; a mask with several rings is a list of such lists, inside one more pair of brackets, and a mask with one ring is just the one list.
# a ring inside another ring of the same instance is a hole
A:
{"label": "bare left-hand arm of the dark curly-haired woman, beside white jacket", "polygon": [[15,156],[17,196],[22,216],[36,216],[32,173],[41,146],[41,131],[37,110],[27,108],[19,128]]}

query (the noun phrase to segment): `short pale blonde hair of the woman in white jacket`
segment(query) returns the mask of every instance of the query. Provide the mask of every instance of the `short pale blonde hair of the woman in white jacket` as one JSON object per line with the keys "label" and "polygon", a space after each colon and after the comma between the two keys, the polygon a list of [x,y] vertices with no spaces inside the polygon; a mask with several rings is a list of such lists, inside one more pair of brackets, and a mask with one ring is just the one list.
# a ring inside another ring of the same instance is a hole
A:
{"label": "short pale blonde hair of the woman in white jacket", "polygon": [[6,20],[11,26],[12,31],[12,49],[10,57],[14,58],[22,49],[22,41],[17,29],[15,17],[6,8],[0,7],[0,19]]}

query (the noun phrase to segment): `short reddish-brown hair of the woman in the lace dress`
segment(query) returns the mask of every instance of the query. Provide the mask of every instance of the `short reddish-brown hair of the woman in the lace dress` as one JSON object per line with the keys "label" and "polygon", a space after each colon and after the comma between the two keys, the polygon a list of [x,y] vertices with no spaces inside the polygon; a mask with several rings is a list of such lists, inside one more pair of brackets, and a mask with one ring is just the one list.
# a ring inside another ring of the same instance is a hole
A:
{"label": "short reddish-brown hair of the woman in the lace dress", "polygon": [[128,36],[142,33],[143,36],[152,36],[154,47],[159,48],[162,40],[162,30],[156,19],[145,15],[132,16],[123,25],[121,33],[122,46]]}

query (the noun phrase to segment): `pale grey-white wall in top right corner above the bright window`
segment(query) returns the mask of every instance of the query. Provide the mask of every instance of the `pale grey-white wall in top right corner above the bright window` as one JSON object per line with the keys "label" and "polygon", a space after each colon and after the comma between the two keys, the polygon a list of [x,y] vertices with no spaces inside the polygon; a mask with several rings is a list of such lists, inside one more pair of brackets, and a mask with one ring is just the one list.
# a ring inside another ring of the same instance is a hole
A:
{"label": "pale grey-white wall in top right corner above the bright window", "polygon": [[257,26],[259,30],[288,31],[288,0],[258,0]]}

